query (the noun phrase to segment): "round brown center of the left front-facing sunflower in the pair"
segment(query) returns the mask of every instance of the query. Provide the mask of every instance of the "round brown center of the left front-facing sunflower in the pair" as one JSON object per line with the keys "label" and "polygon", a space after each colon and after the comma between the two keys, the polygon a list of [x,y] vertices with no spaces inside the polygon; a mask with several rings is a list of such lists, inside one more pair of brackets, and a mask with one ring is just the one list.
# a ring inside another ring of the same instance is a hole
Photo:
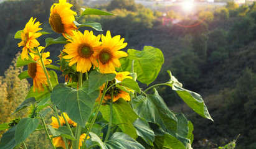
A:
{"label": "round brown center of the left front-facing sunflower in the pair", "polygon": [[81,43],[77,48],[78,55],[82,58],[90,58],[94,53],[93,48],[88,43]]}

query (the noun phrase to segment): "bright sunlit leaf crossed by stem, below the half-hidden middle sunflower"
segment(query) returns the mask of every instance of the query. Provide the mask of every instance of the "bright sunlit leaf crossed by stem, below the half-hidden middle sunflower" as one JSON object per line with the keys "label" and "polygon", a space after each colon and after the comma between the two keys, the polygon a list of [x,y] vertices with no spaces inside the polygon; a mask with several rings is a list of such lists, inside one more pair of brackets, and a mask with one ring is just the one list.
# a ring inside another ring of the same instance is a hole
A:
{"label": "bright sunlit leaf crossed by stem, below the half-hidden middle sunflower", "polygon": [[[132,138],[137,138],[138,135],[136,133],[135,127],[133,127],[132,123],[138,118],[138,115],[131,109],[130,104],[123,99],[118,99],[118,101],[113,102],[113,114],[112,114],[112,122],[113,124],[118,125],[120,129],[130,135]],[[110,106],[101,106],[100,112],[105,120],[109,122],[110,120]]]}

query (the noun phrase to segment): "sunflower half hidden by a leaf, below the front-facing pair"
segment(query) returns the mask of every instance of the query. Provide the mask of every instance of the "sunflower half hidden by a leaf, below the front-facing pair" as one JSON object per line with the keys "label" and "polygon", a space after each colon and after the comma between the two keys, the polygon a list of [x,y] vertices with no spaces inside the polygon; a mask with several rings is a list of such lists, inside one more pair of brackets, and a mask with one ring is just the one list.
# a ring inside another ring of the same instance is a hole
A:
{"label": "sunflower half hidden by a leaf, below the front-facing pair", "polygon": [[[120,73],[114,72],[114,73],[116,74],[115,79],[118,81],[123,81],[123,79],[125,78],[132,79],[131,76],[128,76],[130,74],[128,71],[120,72]],[[114,82],[111,81],[110,83],[108,83],[108,86],[115,83],[115,79],[113,80]],[[105,84],[103,84],[103,86],[100,87],[100,96],[98,96],[98,99],[96,99],[96,101],[100,101],[100,99],[102,98],[104,88],[105,88]],[[128,89],[128,91],[131,91],[131,90]],[[122,91],[119,88],[114,88],[113,102],[117,101],[120,98],[123,98],[125,101],[130,101],[130,95],[128,93],[126,93],[125,91]],[[107,91],[107,93],[104,96],[103,103],[105,103],[108,100],[111,100],[111,91]]]}

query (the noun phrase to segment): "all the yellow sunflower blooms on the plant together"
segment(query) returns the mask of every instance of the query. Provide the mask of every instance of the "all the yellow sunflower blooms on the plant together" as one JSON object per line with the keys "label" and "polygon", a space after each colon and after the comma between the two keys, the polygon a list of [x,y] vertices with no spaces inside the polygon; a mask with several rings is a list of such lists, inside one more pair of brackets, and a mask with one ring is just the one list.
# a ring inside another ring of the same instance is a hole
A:
{"label": "all the yellow sunflower blooms on the plant together", "polygon": [[[110,31],[107,31],[106,35],[93,35],[92,31],[85,30],[82,34],[74,24],[76,12],[70,9],[72,4],[69,4],[66,0],[59,0],[59,3],[55,3],[50,8],[49,24],[54,32],[62,34],[66,38],[67,44],[64,46],[64,50],[60,55],[60,59],[69,63],[69,66],[75,66],[75,70],[78,73],[88,73],[88,71],[97,68],[100,73],[115,73],[115,79],[123,81],[125,78],[132,79],[130,73],[116,72],[115,67],[120,67],[120,57],[128,56],[126,52],[119,51],[125,48],[127,43],[124,43],[124,38],[120,38],[120,35],[111,37]],[[39,46],[40,43],[36,38],[42,35],[39,30],[40,22],[36,22],[36,18],[29,20],[26,27],[21,31],[22,41],[18,43],[19,47],[23,46],[21,59],[29,59],[31,56],[34,63],[28,64],[28,75],[33,79],[34,88],[33,91],[44,91],[45,86],[49,86],[50,75],[45,69],[45,65],[52,63],[52,60],[47,59],[50,56],[49,52],[44,52],[45,47]],[[100,41],[101,40],[101,41]],[[62,68],[62,66],[60,66]],[[69,76],[70,80],[72,77]],[[113,80],[115,83],[115,80]],[[108,84],[110,86],[110,84]],[[100,101],[105,84],[100,87],[100,96],[96,101]],[[113,102],[117,101],[120,97],[126,101],[130,101],[130,96],[125,91],[115,88],[115,94],[112,97]],[[111,94],[106,93],[103,102],[108,102],[111,99]],[[73,122],[67,114],[59,116],[61,126],[66,125],[65,120],[69,122],[70,127],[77,127],[77,123]],[[52,127],[58,129],[60,125],[55,117],[52,117]],[[87,139],[90,137],[87,137]],[[82,146],[82,142],[85,139],[85,133],[80,135],[79,147]],[[55,147],[66,148],[62,137],[53,138]],[[69,142],[70,145],[70,142]]]}

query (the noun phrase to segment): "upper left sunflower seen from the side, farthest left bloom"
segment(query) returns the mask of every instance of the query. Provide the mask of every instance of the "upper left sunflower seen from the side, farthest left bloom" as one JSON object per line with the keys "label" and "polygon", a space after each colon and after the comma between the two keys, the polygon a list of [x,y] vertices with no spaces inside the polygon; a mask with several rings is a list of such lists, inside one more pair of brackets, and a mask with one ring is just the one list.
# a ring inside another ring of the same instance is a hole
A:
{"label": "upper left sunflower seen from the side, farthest left bloom", "polygon": [[37,31],[41,30],[42,28],[39,28],[40,22],[36,22],[36,18],[33,19],[33,17],[31,17],[31,19],[29,20],[29,22],[27,22],[25,28],[21,31],[21,42],[18,43],[19,47],[24,46],[22,48],[22,53],[21,53],[21,59],[24,60],[24,58],[28,59],[28,51],[33,52],[32,49],[34,47],[38,47],[40,44],[39,42],[36,40],[36,38],[40,37],[40,33],[36,33]]}

